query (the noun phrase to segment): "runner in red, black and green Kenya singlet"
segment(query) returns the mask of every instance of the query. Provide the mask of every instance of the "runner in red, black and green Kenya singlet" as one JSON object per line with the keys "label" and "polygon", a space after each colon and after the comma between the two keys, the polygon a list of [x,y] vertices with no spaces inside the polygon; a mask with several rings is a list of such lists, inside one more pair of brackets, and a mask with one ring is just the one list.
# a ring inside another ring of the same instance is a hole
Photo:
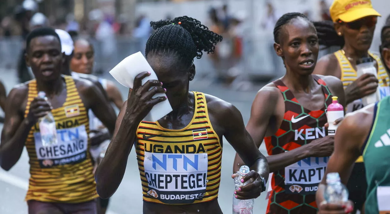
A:
{"label": "runner in red, black and green Kenya singlet", "polygon": [[[284,14],[275,25],[274,39],[286,74],[257,93],[246,129],[257,147],[264,139],[269,154],[273,176],[267,214],[316,214],[317,185],[333,152],[326,109],[332,96],[344,105],[344,90],[335,77],[312,75],[319,45],[305,15]],[[242,164],[236,155],[233,172]]]}

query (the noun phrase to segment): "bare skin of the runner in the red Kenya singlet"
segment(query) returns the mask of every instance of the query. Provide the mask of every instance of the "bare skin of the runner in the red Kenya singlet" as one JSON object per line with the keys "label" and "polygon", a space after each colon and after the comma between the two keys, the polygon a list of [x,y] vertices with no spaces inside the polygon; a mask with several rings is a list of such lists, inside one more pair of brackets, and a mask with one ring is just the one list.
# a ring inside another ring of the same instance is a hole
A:
{"label": "bare skin of the runner in the red Kenya singlet", "polygon": [[[280,79],[305,108],[314,111],[321,109],[324,107],[325,96],[321,86],[311,75],[319,50],[316,30],[311,23],[301,18],[291,20],[283,28],[281,44],[275,43],[275,50],[283,57],[287,69],[286,75]],[[313,61],[312,67],[301,68],[301,62],[307,59]],[[342,82],[332,76],[319,76],[331,93],[338,96],[339,102],[344,105]],[[282,124],[284,113],[285,103],[280,89],[272,82],[260,89],[252,103],[251,116],[246,126],[257,148],[264,137],[275,135]],[[333,136],[322,137],[289,152],[268,156],[269,171],[275,172],[307,157],[328,157],[332,151]],[[236,155],[233,173],[243,164],[241,158]]]}

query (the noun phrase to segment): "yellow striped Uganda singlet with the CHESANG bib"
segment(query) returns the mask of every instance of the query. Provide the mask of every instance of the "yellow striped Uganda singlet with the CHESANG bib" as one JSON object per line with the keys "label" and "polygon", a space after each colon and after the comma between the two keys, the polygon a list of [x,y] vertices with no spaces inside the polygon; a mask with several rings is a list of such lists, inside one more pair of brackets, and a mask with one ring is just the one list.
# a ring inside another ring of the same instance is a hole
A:
{"label": "yellow striped Uganda singlet with the CHESANG bib", "polygon": [[[26,200],[82,203],[97,197],[89,148],[87,111],[73,78],[64,76],[67,97],[62,107],[51,112],[57,123],[57,145],[42,145],[39,125],[30,130],[26,148],[30,157],[30,184]],[[28,101],[37,96],[36,80],[28,83]]]}

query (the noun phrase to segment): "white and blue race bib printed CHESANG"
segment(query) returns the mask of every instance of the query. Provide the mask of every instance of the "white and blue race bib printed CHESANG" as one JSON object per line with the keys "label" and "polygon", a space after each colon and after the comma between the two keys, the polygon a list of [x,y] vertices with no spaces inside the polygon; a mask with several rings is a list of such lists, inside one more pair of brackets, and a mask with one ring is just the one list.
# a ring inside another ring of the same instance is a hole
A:
{"label": "white and blue race bib printed CHESANG", "polygon": [[57,129],[58,144],[43,146],[41,133],[34,133],[35,152],[41,168],[76,164],[87,159],[88,135],[85,125]]}

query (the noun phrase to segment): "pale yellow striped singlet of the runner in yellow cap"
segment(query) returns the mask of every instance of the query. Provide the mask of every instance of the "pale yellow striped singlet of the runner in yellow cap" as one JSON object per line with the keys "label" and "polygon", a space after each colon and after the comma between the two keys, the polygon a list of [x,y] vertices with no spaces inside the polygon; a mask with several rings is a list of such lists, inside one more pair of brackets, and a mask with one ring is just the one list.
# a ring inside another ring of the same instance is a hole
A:
{"label": "pale yellow striped singlet of the runner in yellow cap", "polygon": [[[357,78],[358,73],[356,70],[352,67],[351,62],[347,59],[345,56],[344,50],[339,50],[334,53],[337,60],[339,61],[339,65],[341,68],[341,81],[344,85],[344,90],[352,84]],[[383,67],[383,63],[381,61],[381,58],[378,57],[375,54],[372,54],[369,52],[369,55],[375,59],[376,63],[378,64],[378,80],[379,80],[379,86],[378,90],[380,91],[380,99],[383,99],[385,96],[390,95],[390,79],[387,75],[387,72],[385,70],[385,67]],[[346,113],[356,111],[358,109],[363,108],[362,100],[355,100],[347,105]],[[359,157],[356,162],[363,162],[363,158]]]}

